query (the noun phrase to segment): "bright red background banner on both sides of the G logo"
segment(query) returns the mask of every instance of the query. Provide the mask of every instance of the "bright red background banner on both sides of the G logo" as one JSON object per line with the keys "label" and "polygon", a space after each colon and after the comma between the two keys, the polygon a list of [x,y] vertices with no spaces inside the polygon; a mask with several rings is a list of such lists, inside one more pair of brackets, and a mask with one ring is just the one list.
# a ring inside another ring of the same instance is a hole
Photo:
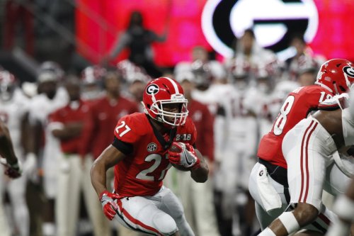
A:
{"label": "bright red background banner on both sides of the G logo", "polygon": [[[93,63],[98,63],[112,50],[115,40],[127,28],[132,11],[142,12],[144,26],[162,35],[164,43],[154,43],[155,62],[162,67],[190,60],[191,49],[203,45],[211,49],[202,32],[201,15],[206,0],[77,0],[77,51]],[[312,43],[315,53],[327,58],[354,59],[354,1],[315,0],[319,26]],[[115,60],[127,57],[127,51]]]}

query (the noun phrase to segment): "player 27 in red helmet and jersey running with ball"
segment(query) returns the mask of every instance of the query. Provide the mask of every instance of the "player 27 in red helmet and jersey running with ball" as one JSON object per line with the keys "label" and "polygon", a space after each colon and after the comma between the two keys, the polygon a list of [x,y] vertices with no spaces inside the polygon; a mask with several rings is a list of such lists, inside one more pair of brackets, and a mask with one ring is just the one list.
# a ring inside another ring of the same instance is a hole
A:
{"label": "player 27 in red helmet and jersey running with ball", "polygon": [[[196,130],[188,117],[188,101],[180,84],[161,77],[147,84],[143,103],[145,113],[118,121],[112,145],[91,169],[93,187],[110,220],[115,218],[125,227],[150,235],[192,236],[181,203],[162,185],[171,163],[189,169],[195,181],[207,181],[207,164],[193,147]],[[169,150],[172,143],[183,152]],[[113,166],[115,193],[110,193],[105,173]]]}

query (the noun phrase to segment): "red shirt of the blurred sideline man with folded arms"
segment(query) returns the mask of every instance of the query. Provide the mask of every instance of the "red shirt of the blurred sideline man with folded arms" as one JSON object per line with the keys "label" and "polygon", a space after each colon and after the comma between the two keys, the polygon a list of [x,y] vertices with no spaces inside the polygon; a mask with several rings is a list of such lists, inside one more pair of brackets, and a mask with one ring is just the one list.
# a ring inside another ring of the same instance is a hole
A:
{"label": "red shirt of the blurred sideline man with folded arms", "polygon": [[89,153],[89,141],[93,128],[92,116],[86,101],[80,100],[77,107],[70,103],[50,114],[50,122],[66,125],[69,123],[83,123],[81,134],[70,139],[60,140],[62,152],[84,155]]}

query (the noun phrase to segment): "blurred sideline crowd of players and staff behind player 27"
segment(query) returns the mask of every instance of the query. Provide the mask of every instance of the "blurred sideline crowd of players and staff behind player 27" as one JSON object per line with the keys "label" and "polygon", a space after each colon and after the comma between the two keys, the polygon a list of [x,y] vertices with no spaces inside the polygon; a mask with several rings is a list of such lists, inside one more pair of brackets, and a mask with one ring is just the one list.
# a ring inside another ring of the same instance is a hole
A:
{"label": "blurred sideline crowd of players and staff behind player 27", "polygon": [[[185,179],[188,173],[173,167],[165,181],[181,198],[195,235],[258,230],[248,192],[258,141],[272,128],[287,94],[314,84],[324,62],[302,35],[294,35],[290,46],[294,55],[281,61],[260,47],[249,29],[237,40],[231,59],[212,60],[197,46],[191,61],[161,70],[183,86],[198,150],[209,163],[206,184]],[[0,118],[8,124],[24,172],[16,180],[1,176],[6,212],[0,216],[6,229],[1,235],[137,235],[103,217],[89,170],[113,141],[118,119],[142,112],[144,86],[152,77],[131,60],[90,65],[79,74],[45,61],[35,83],[20,83],[1,68]]]}

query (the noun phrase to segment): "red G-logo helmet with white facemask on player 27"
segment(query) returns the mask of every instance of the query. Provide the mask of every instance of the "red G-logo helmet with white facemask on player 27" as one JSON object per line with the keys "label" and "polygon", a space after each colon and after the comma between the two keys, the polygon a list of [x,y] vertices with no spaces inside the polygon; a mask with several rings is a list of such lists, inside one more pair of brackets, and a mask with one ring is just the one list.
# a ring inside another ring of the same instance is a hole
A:
{"label": "red G-logo helmet with white facemask on player 27", "polygon": [[[181,85],[167,77],[154,79],[147,84],[142,103],[145,113],[164,124],[183,125],[188,116],[188,100],[184,97]],[[178,111],[169,109],[173,104],[178,105]]]}

